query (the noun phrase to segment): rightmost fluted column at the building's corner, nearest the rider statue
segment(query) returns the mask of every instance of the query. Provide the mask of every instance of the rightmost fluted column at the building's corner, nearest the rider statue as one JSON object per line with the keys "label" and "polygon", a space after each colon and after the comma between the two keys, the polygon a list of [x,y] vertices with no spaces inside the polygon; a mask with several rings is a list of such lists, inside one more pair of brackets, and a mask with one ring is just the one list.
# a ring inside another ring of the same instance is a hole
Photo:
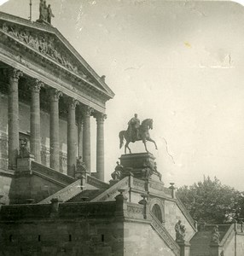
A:
{"label": "rightmost fluted column at the building's corner, nearest the rider statue", "polygon": [[104,113],[96,114],[96,172],[97,178],[104,181]]}

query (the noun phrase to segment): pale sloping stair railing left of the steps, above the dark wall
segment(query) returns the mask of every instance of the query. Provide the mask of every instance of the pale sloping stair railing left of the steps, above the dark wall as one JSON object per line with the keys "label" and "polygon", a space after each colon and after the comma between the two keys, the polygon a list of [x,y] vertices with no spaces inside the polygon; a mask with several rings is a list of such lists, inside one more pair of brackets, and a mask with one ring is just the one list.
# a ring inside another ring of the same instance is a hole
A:
{"label": "pale sloping stair railing left of the steps, above the dark wall", "polygon": [[69,184],[64,189],[59,190],[53,195],[45,198],[43,201],[39,201],[38,204],[49,204],[52,199],[57,198],[59,201],[68,201],[75,195],[78,195],[82,191],[81,180],[78,179],[74,183]]}

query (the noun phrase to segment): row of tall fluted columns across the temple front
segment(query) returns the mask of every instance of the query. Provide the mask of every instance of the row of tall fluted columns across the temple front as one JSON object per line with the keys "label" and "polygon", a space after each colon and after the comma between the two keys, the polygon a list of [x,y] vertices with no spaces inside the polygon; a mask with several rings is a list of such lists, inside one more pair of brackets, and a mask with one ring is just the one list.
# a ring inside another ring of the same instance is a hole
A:
{"label": "row of tall fluted columns across the temple front", "polygon": [[[9,72],[9,168],[17,167],[19,154],[19,79],[23,73],[16,69]],[[30,115],[30,150],[37,162],[41,161],[40,135],[40,90],[42,81],[31,79],[31,115]],[[59,139],[59,99],[62,92],[49,88],[49,148],[50,167],[59,171],[60,139]],[[76,118],[76,108],[80,102],[72,97],[67,100],[67,175],[74,177],[77,156],[83,156],[84,163],[90,172],[90,116],[96,118],[96,173],[104,179],[104,113],[94,112],[93,108],[83,105]],[[78,119],[78,142],[76,141],[76,119]],[[77,152],[78,150],[78,152]]]}

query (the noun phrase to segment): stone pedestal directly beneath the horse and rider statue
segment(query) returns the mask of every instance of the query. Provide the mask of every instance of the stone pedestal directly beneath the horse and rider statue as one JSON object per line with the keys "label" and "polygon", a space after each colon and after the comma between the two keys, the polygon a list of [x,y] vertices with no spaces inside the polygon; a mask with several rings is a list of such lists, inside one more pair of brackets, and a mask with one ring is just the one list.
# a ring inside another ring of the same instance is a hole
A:
{"label": "stone pedestal directly beneath the horse and rider statue", "polygon": [[160,181],[160,172],[157,172],[155,157],[151,153],[122,154],[119,158],[123,166],[123,176],[132,173],[133,177]]}

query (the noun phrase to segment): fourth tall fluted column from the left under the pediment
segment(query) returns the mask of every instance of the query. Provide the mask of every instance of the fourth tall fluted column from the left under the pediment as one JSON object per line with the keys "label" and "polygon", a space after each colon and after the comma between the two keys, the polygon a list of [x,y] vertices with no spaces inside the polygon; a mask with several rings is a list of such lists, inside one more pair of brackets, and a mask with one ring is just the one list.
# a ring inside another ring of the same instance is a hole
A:
{"label": "fourth tall fluted column from the left under the pediment", "polygon": [[68,101],[67,115],[67,175],[74,177],[76,158],[77,158],[77,142],[75,129],[75,107],[78,102],[74,99]]}

